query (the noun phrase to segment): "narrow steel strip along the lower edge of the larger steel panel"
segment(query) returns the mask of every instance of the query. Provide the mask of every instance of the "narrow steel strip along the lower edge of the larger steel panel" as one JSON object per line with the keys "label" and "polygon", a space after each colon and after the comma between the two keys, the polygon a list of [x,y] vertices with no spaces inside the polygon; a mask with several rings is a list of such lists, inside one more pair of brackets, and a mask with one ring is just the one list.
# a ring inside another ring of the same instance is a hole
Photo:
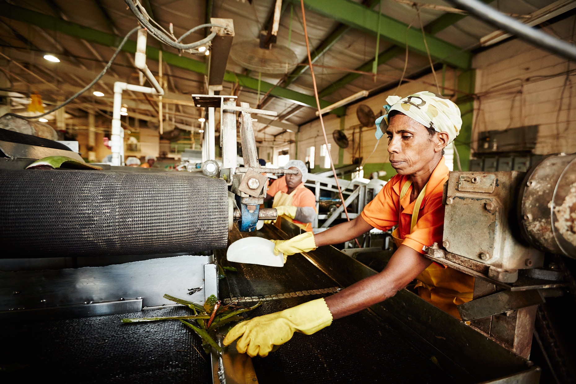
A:
{"label": "narrow steel strip along the lower edge of the larger steel panel", "polygon": [[142,298],[107,301],[101,303],[62,305],[37,309],[22,309],[0,311],[0,321],[21,320],[24,318],[71,318],[109,315],[114,313],[130,313],[142,310]]}

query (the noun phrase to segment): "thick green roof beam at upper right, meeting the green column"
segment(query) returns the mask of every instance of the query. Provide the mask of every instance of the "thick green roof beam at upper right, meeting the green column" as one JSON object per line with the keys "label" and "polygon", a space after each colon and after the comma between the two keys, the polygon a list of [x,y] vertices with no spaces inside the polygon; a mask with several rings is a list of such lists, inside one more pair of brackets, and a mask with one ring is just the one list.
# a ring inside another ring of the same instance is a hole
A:
{"label": "thick green roof beam at upper right, meeting the green column", "polygon": [[[300,3],[297,0],[290,0]],[[315,13],[338,20],[343,24],[375,35],[380,33],[383,39],[393,44],[404,47],[408,40],[408,49],[420,55],[426,56],[426,47],[422,39],[420,29],[410,28],[408,25],[392,17],[382,14],[380,31],[378,31],[378,17],[380,13],[369,9],[352,0],[304,0],[305,6]],[[440,62],[461,70],[467,70],[471,64],[472,54],[462,50],[456,45],[450,44],[430,34],[426,35],[426,41],[430,55]]]}

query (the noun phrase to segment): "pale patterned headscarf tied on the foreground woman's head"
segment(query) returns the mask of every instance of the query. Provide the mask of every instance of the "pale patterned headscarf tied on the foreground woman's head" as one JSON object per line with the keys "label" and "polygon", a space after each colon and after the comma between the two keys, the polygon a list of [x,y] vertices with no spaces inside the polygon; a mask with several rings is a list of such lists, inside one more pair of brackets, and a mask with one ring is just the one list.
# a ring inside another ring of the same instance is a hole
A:
{"label": "pale patterned headscarf tied on the foreground woman's head", "polygon": [[[384,105],[386,115],[376,120],[376,138],[380,139],[388,127],[388,114],[398,111],[436,132],[448,132],[450,143],[456,139],[462,127],[460,109],[452,101],[432,92],[417,92],[408,97],[388,96]],[[384,121],[384,124],[382,124]],[[384,128],[384,129],[382,129]]]}

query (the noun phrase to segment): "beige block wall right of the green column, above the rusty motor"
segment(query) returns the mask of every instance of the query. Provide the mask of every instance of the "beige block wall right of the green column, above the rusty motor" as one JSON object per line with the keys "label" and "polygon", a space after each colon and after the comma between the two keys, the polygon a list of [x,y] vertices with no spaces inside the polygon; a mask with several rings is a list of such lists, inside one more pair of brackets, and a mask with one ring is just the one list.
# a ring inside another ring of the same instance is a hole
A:
{"label": "beige block wall right of the green column, above the rusty motor", "polygon": [[[573,23],[570,17],[546,32],[571,40]],[[564,86],[564,72],[576,69],[574,63],[516,39],[481,52],[472,64],[480,95],[475,103],[473,149],[478,132],[539,125],[535,153],[576,151],[576,100],[571,100],[576,90],[570,79]]]}

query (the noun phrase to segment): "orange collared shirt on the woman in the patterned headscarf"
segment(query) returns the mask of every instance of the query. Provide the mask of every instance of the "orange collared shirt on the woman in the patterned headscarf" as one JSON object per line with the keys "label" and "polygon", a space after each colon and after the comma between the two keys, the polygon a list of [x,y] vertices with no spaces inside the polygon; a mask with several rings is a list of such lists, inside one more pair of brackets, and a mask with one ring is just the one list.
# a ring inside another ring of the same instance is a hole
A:
{"label": "orange collared shirt on the woman in the patterned headscarf", "polygon": [[430,246],[434,242],[442,244],[442,232],[444,231],[444,205],[442,205],[442,193],[444,183],[448,180],[448,167],[442,157],[434,172],[430,176],[426,187],[426,194],[420,205],[418,222],[410,233],[412,211],[416,200],[410,202],[412,184],[404,198],[400,201],[400,191],[408,176],[397,174],[393,176],[382,191],[362,211],[362,218],[374,228],[386,231],[398,224],[400,238],[404,239],[403,245],[409,246],[420,253],[424,246]]}

